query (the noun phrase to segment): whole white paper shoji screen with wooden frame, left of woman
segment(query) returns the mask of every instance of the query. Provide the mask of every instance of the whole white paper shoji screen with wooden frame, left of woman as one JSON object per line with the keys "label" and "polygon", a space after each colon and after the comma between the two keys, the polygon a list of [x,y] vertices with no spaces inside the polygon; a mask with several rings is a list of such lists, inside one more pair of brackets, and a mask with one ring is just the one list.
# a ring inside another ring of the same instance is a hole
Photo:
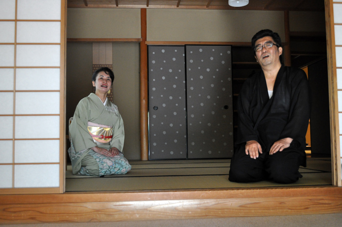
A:
{"label": "whole white paper shoji screen with wooden frame, left of woman", "polygon": [[2,194],[63,192],[64,31],[65,0],[0,0]]}

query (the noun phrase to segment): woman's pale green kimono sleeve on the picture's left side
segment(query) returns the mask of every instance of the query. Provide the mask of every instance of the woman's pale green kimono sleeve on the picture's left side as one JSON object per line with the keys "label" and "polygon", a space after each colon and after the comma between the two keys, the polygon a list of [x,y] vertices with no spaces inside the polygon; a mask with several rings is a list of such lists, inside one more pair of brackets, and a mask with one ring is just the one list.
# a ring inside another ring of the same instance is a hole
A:
{"label": "woman's pale green kimono sleeve on the picture's left side", "polygon": [[73,119],[69,126],[70,136],[76,152],[97,146],[88,131],[88,101],[83,98],[76,106]]}

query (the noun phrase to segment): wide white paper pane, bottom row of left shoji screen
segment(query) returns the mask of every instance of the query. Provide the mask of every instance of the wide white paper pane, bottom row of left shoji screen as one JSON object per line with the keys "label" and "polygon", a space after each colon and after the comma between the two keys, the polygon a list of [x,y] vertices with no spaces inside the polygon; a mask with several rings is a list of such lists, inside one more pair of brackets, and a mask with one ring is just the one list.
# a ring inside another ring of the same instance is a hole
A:
{"label": "wide white paper pane, bottom row of left shoji screen", "polygon": [[59,187],[59,164],[14,166],[14,188]]}

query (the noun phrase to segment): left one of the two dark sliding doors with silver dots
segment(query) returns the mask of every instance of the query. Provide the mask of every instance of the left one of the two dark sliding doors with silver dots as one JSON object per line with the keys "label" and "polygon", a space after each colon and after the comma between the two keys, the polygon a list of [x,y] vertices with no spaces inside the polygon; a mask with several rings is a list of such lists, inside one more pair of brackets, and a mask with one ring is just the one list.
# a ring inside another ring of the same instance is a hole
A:
{"label": "left one of the two dark sliding doors with silver dots", "polygon": [[186,159],[184,46],[148,47],[149,159]]}

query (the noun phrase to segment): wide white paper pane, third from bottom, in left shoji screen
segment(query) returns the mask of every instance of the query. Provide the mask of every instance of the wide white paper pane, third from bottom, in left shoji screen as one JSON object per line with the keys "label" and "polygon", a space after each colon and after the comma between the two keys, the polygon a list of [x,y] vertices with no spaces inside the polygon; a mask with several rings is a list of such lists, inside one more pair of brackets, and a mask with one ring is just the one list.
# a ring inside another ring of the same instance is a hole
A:
{"label": "wide white paper pane, third from bottom, in left shoji screen", "polygon": [[59,138],[59,116],[15,117],[16,139]]}

